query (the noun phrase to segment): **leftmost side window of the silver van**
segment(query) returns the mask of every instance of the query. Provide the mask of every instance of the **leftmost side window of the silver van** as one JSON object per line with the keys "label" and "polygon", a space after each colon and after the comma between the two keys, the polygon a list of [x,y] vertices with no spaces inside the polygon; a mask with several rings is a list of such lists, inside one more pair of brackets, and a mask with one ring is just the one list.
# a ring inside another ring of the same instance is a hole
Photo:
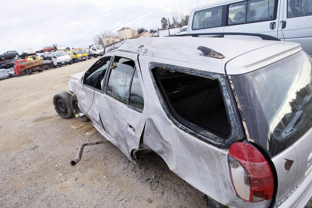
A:
{"label": "leftmost side window of the silver van", "polygon": [[209,8],[194,13],[192,30],[222,26],[223,6]]}

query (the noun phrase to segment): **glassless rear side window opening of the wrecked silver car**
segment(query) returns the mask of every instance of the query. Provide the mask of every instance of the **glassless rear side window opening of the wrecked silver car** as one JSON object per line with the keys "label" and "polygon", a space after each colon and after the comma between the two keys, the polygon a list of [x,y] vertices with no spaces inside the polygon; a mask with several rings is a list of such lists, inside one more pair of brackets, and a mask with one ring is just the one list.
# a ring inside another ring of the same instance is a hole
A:
{"label": "glassless rear side window opening of the wrecked silver car", "polygon": [[152,70],[170,114],[204,137],[222,142],[231,134],[219,81],[180,71]]}

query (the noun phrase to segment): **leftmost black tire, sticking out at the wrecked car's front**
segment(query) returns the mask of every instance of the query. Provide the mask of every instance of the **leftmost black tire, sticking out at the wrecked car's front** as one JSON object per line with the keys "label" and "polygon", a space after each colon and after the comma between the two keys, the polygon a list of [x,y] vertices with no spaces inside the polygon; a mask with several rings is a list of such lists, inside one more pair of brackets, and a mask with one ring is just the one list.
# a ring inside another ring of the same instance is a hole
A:
{"label": "leftmost black tire, sticking out at the wrecked car's front", "polygon": [[73,117],[73,111],[71,110],[71,94],[68,92],[60,92],[53,97],[53,106],[56,113],[63,119],[69,119]]}

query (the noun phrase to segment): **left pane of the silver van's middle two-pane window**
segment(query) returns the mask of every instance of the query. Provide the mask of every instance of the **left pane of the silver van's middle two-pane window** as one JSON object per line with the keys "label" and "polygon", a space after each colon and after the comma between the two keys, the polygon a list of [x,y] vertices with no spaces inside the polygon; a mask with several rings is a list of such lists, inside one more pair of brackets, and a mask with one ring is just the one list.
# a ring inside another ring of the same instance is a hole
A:
{"label": "left pane of the silver van's middle two-pane window", "polygon": [[246,23],[247,2],[239,2],[229,5],[228,25]]}

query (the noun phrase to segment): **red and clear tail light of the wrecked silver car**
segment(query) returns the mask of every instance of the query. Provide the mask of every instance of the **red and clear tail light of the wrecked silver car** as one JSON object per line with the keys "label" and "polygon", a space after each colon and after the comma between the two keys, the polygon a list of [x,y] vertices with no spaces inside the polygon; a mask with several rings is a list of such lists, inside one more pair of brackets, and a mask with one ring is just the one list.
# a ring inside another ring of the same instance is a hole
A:
{"label": "red and clear tail light of the wrecked silver car", "polygon": [[228,161],[236,194],[245,201],[269,201],[274,180],[271,167],[263,155],[247,143],[230,146]]}

